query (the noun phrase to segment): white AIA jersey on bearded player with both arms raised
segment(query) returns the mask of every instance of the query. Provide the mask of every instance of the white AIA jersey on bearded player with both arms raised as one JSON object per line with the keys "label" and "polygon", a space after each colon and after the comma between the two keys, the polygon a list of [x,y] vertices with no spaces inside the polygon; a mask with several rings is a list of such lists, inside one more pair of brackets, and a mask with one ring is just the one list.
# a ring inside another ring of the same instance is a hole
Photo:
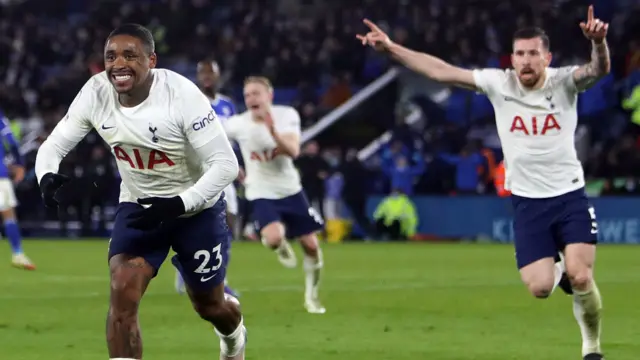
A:
{"label": "white AIA jersey on bearded player with both arms raised", "polygon": [[506,170],[505,188],[518,196],[549,198],[584,187],[575,150],[578,123],[576,67],[547,68],[544,85],[526,90],[514,70],[474,70],[477,88],[495,110]]}

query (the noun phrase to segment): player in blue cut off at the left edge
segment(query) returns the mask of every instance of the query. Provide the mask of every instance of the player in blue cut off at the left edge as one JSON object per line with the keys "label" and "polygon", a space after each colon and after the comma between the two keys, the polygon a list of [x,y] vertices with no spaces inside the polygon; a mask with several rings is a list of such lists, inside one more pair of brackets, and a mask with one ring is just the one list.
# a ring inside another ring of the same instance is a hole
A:
{"label": "player in blue cut off at the left edge", "polygon": [[[20,146],[11,132],[9,121],[2,111],[0,111],[0,135],[3,140],[3,144],[0,146],[0,157],[3,160],[0,163],[0,214],[2,214],[4,221],[5,235],[11,245],[11,265],[19,269],[35,270],[36,266],[22,250],[22,236],[15,212],[18,201],[13,191],[13,184],[24,179],[22,155],[20,154]],[[13,164],[10,166],[4,162],[6,145],[8,145],[13,157]],[[11,175],[13,175],[13,181],[11,181]]]}

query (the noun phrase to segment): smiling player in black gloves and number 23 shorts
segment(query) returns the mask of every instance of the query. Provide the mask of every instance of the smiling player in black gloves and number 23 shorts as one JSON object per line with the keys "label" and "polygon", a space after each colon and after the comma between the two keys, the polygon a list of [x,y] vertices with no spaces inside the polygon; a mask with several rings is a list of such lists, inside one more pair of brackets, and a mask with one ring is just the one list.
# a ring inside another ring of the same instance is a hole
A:
{"label": "smiling player in black gloves and number 23 shorts", "polygon": [[55,207],[69,180],[57,174],[59,163],[89,131],[96,129],[116,158],[122,184],[109,241],[109,356],[142,358],[138,306],[173,248],[194,309],[220,337],[220,359],[242,360],[242,314],[224,293],[230,239],[222,191],[238,175],[229,140],[197,86],[155,69],[146,28],[115,29],[104,62],[105,72],[84,85],[42,144],[35,167],[45,204]]}

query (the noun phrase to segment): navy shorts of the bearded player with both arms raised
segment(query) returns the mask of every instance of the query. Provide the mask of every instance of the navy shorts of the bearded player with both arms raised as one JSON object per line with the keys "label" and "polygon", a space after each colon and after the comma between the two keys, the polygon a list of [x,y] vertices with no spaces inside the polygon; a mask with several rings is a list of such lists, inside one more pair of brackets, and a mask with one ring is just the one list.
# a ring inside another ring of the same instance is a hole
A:
{"label": "navy shorts of the bearded player with both arms raised", "polygon": [[568,244],[598,242],[596,214],[584,189],[544,199],[512,195],[511,200],[519,269],[555,258]]}

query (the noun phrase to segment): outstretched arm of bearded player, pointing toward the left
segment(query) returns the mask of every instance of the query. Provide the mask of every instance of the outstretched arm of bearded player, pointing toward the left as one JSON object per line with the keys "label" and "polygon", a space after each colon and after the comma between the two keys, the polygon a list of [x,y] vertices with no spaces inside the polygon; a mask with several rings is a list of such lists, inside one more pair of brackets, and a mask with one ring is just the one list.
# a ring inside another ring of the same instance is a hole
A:
{"label": "outstretched arm of bearded player, pointing toward the left", "polygon": [[476,83],[471,70],[453,66],[444,60],[425,53],[408,49],[400,44],[396,44],[389,36],[382,31],[372,21],[365,19],[364,24],[369,27],[369,32],[365,35],[356,35],[362,45],[370,45],[378,51],[390,54],[409,69],[420,73],[429,79],[476,90]]}

